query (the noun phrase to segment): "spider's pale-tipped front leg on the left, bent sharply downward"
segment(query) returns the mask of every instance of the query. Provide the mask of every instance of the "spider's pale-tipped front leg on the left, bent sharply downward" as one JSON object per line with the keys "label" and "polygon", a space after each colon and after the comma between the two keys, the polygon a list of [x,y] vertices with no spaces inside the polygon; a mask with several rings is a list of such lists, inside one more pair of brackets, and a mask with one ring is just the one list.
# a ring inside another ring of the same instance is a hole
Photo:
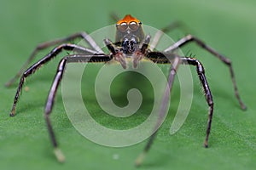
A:
{"label": "spider's pale-tipped front leg on the left, bent sharply downward", "polygon": [[55,79],[52,83],[52,86],[49,90],[49,95],[48,95],[48,99],[45,105],[45,109],[44,109],[44,118],[45,121],[47,123],[47,127],[49,130],[49,137],[50,140],[55,148],[54,152],[55,152],[55,156],[57,158],[58,161],[65,161],[65,157],[62,154],[61,150],[58,149],[58,144],[57,141],[55,139],[55,133],[53,131],[53,127],[51,125],[51,122],[49,120],[49,115],[52,111],[53,105],[54,105],[54,101],[55,101],[55,94],[57,92],[57,89],[60,85],[62,76],[64,74],[65,71],[65,67],[67,65],[67,63],[80,63],[80,62],[108,62],[109,60],[111,60],[111,57],[105,54],[97,54],[97,55],[83,55],[83,54],[73,54],[73,55],[69,55],[67,57],[64,57],[63,59],[61,59],[59,65],[58,65],[58,69],[56,71],[55,74]]}

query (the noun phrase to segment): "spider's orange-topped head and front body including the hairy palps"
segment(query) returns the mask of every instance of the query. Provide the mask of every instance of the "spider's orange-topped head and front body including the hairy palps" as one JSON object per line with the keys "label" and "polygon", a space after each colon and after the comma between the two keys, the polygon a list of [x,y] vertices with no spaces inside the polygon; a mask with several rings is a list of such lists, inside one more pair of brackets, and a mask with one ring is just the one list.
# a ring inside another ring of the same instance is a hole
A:
{"label": "spider's orange-topped head and front body including the hairy palps", "polygon": [[105,43],[112,52],[113,59],[123,68],[127,67],[127,58],[131,58],[133,66],[137,67],[138,62],[145,56],[149,38],[149,36],[145,38],[142,22],[127,14],[116,23],[115,42],[106,39]]}

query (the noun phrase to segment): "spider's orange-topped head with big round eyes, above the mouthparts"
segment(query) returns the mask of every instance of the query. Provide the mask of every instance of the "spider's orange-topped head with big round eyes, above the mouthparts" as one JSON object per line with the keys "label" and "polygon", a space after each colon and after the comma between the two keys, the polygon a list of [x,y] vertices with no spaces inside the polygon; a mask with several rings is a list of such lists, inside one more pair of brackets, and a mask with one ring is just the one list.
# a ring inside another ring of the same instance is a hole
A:
{"label": "spider's orange-topped head with big round eyes, above the mouthparts", "polygon": [[144,32],[142,22],[131,16],[125,15],[122,20],[116,23],[116,42],[136,41],[143,42]]}

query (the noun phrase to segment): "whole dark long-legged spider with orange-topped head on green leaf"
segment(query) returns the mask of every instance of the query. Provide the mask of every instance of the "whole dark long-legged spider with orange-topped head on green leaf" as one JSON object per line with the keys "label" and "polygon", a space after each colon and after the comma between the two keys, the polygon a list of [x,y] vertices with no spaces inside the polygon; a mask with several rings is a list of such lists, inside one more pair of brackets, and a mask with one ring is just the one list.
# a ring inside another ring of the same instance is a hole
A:
{"label": "whole dark long-legged spider with orange-topped head on green leaf", "polygon": [[[157,34],[154,39],[156,39],[158,42],[160,40],[160,37],[162,36],[163,32],[170,31],[173,26],[170,25],[166,26],[166,28],[162,29],[159,34]],[[70,41],[73,41],[74,39],[82,38],[84,39],[89,45],[89,48],[85,48],[83,46],[79,46],[76,44],[68,43]],[[143,25],[140,20],[137,20],[137,18],[132,17],[130,14],[125,15],[125,17],[121,20],[117,20],[116,22],[116,36],[115,41],[112,42],[110,39],[106,38],[103,40],[105,45],[108,48],[109,53],[104,54],[102,51],[102,48],[100,48],[96,42],[88,35],[86,32],[79,32],[75,33],[69,37],[57,39],[55,41],[49,41],[41,43],[32,51],[32,54],[30,57],[26,60],[26,63],[22,66],[20,71],[16,74],[16,76],[11,79],[9,82],[6,83],[6,86],[11,86],[17,78],[20,77],[20,83],[17,88],[14,103],[10,112],[10,116],[15,116],[15,109],[16,104],[18,102],[18,99],[20,99],[20,92],[23,88],[23,84],[25,82],[26,77],[31,76],[35,71],[38,71],[38,69],[49,62],[50,59],[55,58],[58,54],[61,53],[62,50],[67,51],[74,51],[76,54],[70,54],[61,59],[59,62],[57,71],[55,73],[55,78],[52,83],[51,88],[49,89],[49,95],[48,99],[45,105],[44,110],[44,118],[48,127],[49,131],[49,137],[51,140],[51,143],[53,144],[55,156],[58,159],[58,161],[64,161],[64,155],[61,153],[61,150],[58,149],[58,144],[55,139],[55,133],[53,131],[49,115],[52,111],[54,101],[55,101],[55,94],[57,89],[59,88],[61,78],[64,74],[65,67],[67,63],[69,62],[109,62],[112,60],[118,61],[120,65],[125,69],[127,68],[127,62],[126,59],[131,59],[132,65],[134,67],[137,67],[138,63],[142,59],[149,59],[153,61],[154,63],[161,63],[161,64],[170,64],[171,69],[168,77],[168,84],[172,88],[172,82],[174,81],[174,77],[176,75],[177,67],[180,64],[183,65],[194,65],[196,67],[196,71],[198,73],[198,77],[201,81],[201,85],[203,87],[207,105],[209,108],[208,111],[208,122],[207,122],[207,134],[206,139],[204,141],[204,146],[208,147],[208,139],[209,134],[211,130],[211,124],[212,124],[212,114],[213,114],[213,100],[212,100],[212,93],[209,88],[207,77],[205,75],[205,70],[203,65],[198,59],[191,58],[191,57],[181,57],[177,54],[174,54],[174,51],[177,50],[177,48],[182,48],[184,45],[188,44],[189,42],[195,42],[198,46],[201,48],[207,50],[210,54],[220,59],[224,65],[227,65],[230,69],[230,76],[233,82],[233,87],[236,94],[236,99],[238,100],[241,109],[246,110],[246,106],[241,101],[241,97],[238,93],[238,89],[236,86],[236,80],[234,71],[231,65],[230,59],[227,59],[224,57],[224,55],[219,54],[216,50],[213,48],[207,46],[206,43],[202,42],[201,39],[194,37],[192,35],[188,35],[186,37],[181,38],[177,42],[175,42],[170,47],[166,48],[163,51],[155,51],[154,47],[155,44],[150,45],[150,36],[145,35],[143,32]],[[46,54],[42,59],[38,60],[38,62],[34,63],[31,67],[26,69],[27,65],[29,65],[32,62],[32,59],[35,58],[38,51],[43,50],[44,48],[49,48],[51,46],[56,46],[53,48],[49,54]],[[171,63],[171,60],[173,61]],[[170,88],[170,89],[171,89]],[[164,103],[165,101],[163,101]],[[162,104],[164,105],[164,104]],[[151,147],[157,131],[155,131],[149,138],[148,144],[144,148],[142,154],[137,157],[137,165],[140,165],[143,161],[143,157],[148,152],[149,148]]]}

